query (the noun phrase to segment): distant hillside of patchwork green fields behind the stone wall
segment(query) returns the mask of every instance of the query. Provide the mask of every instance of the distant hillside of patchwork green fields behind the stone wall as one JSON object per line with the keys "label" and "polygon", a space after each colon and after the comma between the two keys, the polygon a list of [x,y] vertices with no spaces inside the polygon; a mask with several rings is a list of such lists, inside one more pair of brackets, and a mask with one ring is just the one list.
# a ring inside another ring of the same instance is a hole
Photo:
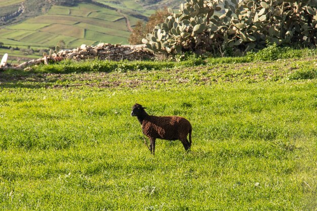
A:
{"label": "distant hillside of patchwork green fields behind the stone wall", "polygon": [[[0,43],[5,46],[48,49],[60,40],[66,49],[101,42],[128,44],[131,28],[154,12],[135,1],[96,1],[69,7],[37,0],[12,0],[0,1],[0,17],[16,11],[21,2],[25,12],[0,28]],[[6,53],[11,60],[15,59],[16,54]],[[20,57],[25,60],[24,55]]]}

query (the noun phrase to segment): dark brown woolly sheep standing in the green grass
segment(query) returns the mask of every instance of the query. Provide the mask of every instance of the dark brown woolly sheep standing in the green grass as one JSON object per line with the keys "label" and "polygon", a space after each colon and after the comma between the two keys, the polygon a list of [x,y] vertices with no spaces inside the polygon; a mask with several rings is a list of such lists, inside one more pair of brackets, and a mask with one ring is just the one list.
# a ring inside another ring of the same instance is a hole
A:
{"label": "dark brown woolly sheep standing in the green grass", "polygon": [[143,134],[150,139],[151,153],[155,152],[155,139],[180,140],[186,151],[190,149],[192,127],[187,119],[179,116],[151,116],[140,104],[132,107],[131,115],[137,116]]}

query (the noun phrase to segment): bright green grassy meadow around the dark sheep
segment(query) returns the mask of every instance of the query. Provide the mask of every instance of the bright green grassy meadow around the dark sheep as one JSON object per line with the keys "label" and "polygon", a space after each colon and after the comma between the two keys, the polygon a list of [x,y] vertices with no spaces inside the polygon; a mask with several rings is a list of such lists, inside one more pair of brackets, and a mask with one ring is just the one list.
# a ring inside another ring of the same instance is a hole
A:
{"label": "bright green grassy meadow around the dark sheep", "polygon": [[[2,210],[316,210],[317,59],[191,60],[0,72]],[[135,103],[191,152],[151,155]]]}

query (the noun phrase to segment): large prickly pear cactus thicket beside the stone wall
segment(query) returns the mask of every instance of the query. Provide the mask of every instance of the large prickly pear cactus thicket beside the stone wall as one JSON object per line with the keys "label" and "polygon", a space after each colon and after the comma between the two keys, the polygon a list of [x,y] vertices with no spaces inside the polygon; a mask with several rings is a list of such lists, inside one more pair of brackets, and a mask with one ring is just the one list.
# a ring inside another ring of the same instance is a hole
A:
{"label": "large prickly pear cactus thicket beside the stone wall", "polygon": [[[178,13],[169,8],[170,16],[142,42],[153,52],[167,53],[248,51],[264,48],[267,41],[315,46],[316,8],[317,0],[186,0]],[[221,15],[215,15],[221,10]]]}

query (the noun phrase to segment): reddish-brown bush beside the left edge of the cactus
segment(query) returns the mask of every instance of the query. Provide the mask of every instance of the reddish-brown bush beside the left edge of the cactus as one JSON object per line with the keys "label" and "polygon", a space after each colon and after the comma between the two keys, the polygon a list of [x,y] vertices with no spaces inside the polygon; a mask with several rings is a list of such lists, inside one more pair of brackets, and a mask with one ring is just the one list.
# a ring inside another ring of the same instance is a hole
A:
{"label": "reddish-brown bush beside the left edge of the cactus", "polygon": [[146,24],[144,24],[143,21],[138,21],[133,32],[130,34],[130,45],[142,44],[142,38],[144,38],[147,33],[151,33],[156,24],[164,22],[168,16],[169,12],[165,8],[164,10],[157,10],[151,15]]}

